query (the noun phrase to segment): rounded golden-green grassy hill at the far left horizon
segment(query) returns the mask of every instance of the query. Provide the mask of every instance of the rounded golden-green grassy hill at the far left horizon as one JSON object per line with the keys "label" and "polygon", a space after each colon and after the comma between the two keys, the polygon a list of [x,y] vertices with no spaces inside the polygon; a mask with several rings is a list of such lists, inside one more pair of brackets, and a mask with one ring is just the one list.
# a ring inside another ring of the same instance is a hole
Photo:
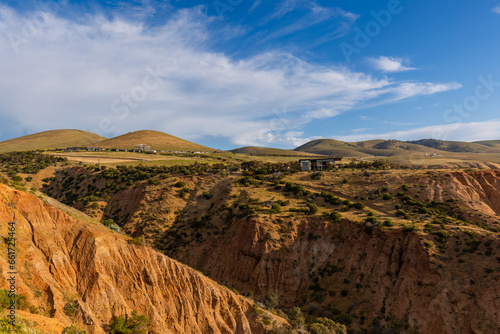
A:
{"label": "rounded golden-green grassy hill at the far left horizon", "polygon": [[51,130],[0,142],[0,152],[93,146],[105,139],[82,130]]}

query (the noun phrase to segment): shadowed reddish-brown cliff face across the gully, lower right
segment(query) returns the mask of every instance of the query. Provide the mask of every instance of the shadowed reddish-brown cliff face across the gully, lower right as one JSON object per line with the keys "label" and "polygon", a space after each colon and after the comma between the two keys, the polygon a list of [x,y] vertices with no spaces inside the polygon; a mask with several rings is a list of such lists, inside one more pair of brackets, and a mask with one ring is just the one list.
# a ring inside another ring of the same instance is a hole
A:
{"label": "shadowed reddish-brown cliff face across the gully, lower right", "polygon": [[[335,294],[336,308],[359,308],[370,324],[390,316],[382,325],[394,328],[398,321],[420,333],[500,331],[498,273],[486,277],[484,264],[457,267],[446,257],[438,268],[418,234],[312,220],[288,243],[277,242],[262,221],[231,232],[233,237],[202,243],[179,259],[240,291],[277,293],[284,307],[310,301],[310,287],[318,282],[327,296]],[[340,297],[341,290],[348,295]]]}

